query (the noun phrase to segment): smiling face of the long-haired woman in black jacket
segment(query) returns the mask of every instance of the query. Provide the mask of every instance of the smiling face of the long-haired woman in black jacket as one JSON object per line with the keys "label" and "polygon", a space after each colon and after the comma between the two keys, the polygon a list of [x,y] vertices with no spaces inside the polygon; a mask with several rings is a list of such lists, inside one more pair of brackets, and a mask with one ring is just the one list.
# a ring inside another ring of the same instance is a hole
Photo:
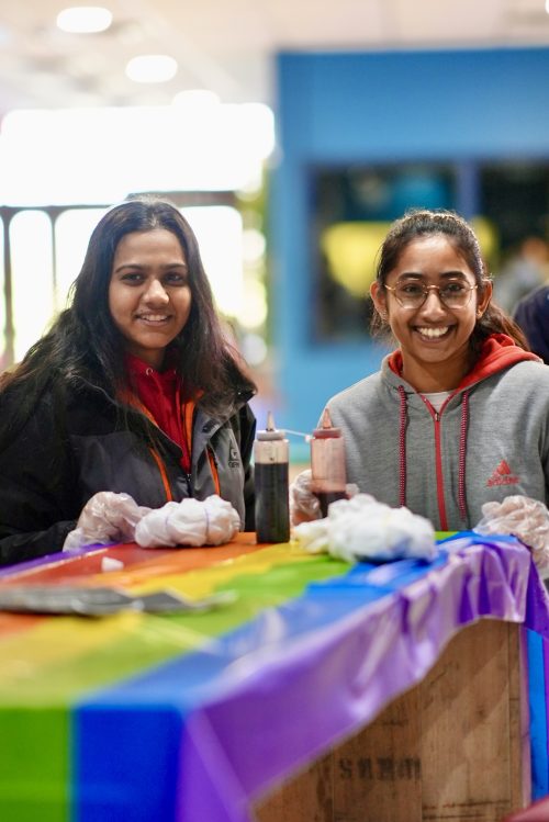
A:
{"label": "smiling face of the long-haired woman in black jacket", "polygon": [[124,235],[114,252],[109,308],[126,350],[159,369],[191,311],[189,270],[179,239],[165,228]]}

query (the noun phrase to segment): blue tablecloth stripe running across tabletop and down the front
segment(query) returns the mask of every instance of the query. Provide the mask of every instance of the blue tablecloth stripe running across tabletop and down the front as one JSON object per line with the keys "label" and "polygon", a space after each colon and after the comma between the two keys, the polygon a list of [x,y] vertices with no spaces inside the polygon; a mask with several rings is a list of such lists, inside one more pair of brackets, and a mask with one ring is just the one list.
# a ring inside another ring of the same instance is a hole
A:
{"label": "blue tablecloth stripe running across tabletop and down the front", "polygon": [[385,584],[379,579],[376,587],[368,576],[379,576],[382,566],[352,566],[343,576],[310,584],[302,597],[259,613],[204,649],[88,696],[74,711],[76,822],[178,819],[170,786],[177,781],[186,717],[216,689],[231,663],[328,626],[391,594],[399,581],[408,584],[446,561],[445,553],[435,563],[391,563],[390,573],[384,566]]}

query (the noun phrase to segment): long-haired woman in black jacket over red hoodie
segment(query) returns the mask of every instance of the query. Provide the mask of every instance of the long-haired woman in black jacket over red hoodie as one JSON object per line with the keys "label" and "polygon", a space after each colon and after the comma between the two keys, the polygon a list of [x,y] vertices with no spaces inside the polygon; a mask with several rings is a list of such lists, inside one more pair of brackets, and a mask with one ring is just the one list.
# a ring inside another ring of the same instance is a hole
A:
{"label": "long-haired woman in black jacket over red hoodie", "polygon": [[254,393],[184,217],[156,198],[111,209],[70,307],[0,380],[0,564],[60,550],[105,491],[150,508],[219,494],[253,529]]}

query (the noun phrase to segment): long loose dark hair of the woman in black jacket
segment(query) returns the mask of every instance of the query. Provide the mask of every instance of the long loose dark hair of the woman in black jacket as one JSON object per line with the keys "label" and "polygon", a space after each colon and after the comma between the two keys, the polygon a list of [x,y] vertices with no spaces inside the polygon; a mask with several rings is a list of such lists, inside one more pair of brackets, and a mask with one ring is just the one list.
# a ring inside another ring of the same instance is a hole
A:
{"label": "long loose dark hair of the woman in black jacket", "polygon": [[[237,350],[229,344],[214,307],[197,238],[178,209],[156,196],[138,196],[112,207],[90,237],[80,273],[71,285],[70,307],[32,346],[22,362],[1,380],[0,391],[19,390],[21,421],[32,413],[46,385],[85,380],[116,397],[130,387],[125,342],[109,308],[109,283],[114,252],[134,232],[165,228],[176,235],[189,268],[191,311],[186,326],[170,345],[186,393],[212,414],[226,406],[237,391],[255,385]],[[170,360],[171,362],[171,360]]]}

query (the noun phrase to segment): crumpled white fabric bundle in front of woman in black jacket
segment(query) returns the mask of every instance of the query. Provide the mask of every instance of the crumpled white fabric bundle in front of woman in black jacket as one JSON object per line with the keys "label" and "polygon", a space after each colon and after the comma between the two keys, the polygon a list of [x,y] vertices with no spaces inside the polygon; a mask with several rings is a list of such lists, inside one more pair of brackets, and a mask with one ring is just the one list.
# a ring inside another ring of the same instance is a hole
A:
{"label": "crumpled white fabric bundle in front of woman in black jacket", "polygon": [[166,503],[137,523],[135,541],[143,548],[221,545],[240,529],[240,518],[231,503],[212,494],[206,499],[189,497]]}

